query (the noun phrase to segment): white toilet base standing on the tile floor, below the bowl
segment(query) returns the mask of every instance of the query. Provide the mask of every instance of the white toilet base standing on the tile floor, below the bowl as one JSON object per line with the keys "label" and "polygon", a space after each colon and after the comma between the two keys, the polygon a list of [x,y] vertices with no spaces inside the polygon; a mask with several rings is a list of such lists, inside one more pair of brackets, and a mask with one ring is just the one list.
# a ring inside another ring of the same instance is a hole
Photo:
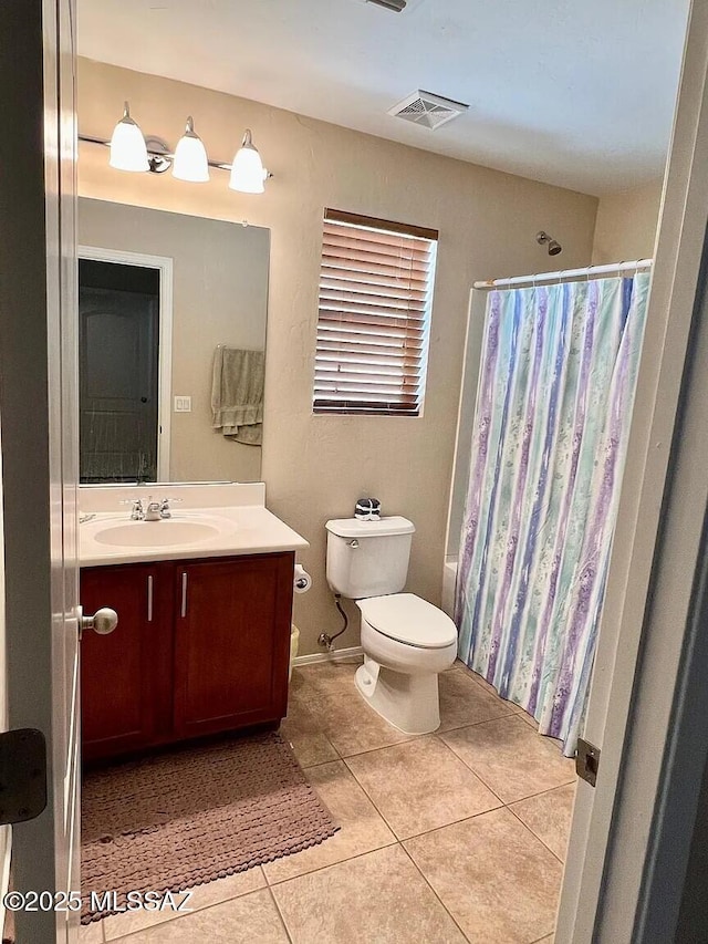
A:
{"label": "white toilet base standing on the tile floor, below the bowl", "polygon": [[431,734],[440,727],[437,672],[407,675],[365,655],[355,682],[364,701],[404,734]]}

